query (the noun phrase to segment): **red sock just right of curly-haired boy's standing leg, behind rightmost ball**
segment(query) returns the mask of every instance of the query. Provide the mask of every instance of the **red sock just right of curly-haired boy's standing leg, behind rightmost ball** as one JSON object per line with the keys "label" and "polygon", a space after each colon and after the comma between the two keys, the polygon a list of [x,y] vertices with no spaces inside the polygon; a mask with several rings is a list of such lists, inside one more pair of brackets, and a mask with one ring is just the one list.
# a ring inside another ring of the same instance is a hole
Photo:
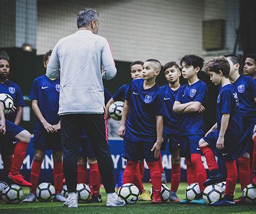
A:
{"label": "red sock just right of curly-haired boy's standing leg, behind rightmost ball", "polygon": [[250,184],[250,158],[239,157],[238,166],[239,180],[241,184],[241,190],[243,191],[244,187]]}

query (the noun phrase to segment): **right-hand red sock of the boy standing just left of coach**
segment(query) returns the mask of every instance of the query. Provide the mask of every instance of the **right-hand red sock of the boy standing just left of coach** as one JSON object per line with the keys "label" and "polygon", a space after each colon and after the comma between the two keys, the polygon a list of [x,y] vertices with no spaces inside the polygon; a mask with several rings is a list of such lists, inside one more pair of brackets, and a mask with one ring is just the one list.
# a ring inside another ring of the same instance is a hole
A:
{"label": "right-hand red sock of the boy standing just left of coach", "polygon": [[54,161],[54,185],[55,185],[55,193],[59,194],[62,192],[63,186],[63,165],[62,162]]}

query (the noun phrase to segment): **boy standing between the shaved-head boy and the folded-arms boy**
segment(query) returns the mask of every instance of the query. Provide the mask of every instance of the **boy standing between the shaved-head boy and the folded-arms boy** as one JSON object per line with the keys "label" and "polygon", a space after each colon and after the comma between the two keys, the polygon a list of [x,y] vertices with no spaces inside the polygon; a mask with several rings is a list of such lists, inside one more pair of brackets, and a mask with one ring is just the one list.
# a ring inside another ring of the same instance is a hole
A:
{"label": "boy standing between the shaved-head boy and the folded-arms boy", "polygon": [[171,188],[170,201],[181,201],[177,197],[177,189],[181,180],[181,157],[179,157],[179,139],[178,139],[178,115],[173,111],[173,104],[178,94],[179,77],[181,71],[179,66],[170,61],[163,67],[168,84],[160,89],[164,95],[165,119],[163,120],[163,143],[161,150],[165,150],[166,143],[169,140],[169,151],[171,153]]}

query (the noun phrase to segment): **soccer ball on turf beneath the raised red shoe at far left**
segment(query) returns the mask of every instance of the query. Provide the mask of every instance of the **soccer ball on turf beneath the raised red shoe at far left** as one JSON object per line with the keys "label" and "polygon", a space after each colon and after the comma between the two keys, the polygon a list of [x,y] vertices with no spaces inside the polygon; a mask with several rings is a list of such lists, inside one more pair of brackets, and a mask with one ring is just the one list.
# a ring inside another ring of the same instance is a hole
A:
{"label": "soccer ball on turf beneath the raised red shoe at far left", "polygon": [[17,184],[5,186],[2,192],[2,199],[6,204],[20,204],[23,196],[23,190]]}

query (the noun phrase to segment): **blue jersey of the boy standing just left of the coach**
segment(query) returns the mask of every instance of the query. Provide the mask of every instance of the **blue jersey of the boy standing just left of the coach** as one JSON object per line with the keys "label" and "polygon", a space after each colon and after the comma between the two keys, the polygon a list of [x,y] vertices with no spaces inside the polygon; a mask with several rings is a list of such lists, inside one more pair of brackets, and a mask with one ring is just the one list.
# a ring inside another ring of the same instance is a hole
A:
{"label": "blue jersey of the boy standing just left of the coach", "polygon": [[[39,109],[48,123],[59,123],[60,80],[51,80],[46,75],[37,77],[32,84],[29,99],[37,100]],[[36,118],[35,133],[47,133],[43,124]]]}

